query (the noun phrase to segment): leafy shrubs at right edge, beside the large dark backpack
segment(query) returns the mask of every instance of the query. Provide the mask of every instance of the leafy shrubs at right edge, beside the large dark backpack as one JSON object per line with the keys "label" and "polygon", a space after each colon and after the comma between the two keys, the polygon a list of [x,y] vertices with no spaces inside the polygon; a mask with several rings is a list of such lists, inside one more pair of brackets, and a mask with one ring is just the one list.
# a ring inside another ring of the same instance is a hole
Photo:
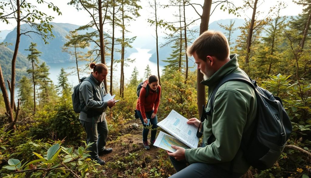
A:
{"label": "leafy shrubs at right edge, beside the large dark backpack", "polygon": [[[293,132],[287,141],[310,152],[311,141],[311,84],[305,81],[294,83],[290,76],[270,76],[263,81],[262,87],[272,94],[281,97],[283,106],[288,113],[293,126]],[[300,85],[300,87],[299,87]],[[300,177],[311,173],[310,158],[304,153],[286,148],[279,161],[269,170],[260,172],[256,177]]]}

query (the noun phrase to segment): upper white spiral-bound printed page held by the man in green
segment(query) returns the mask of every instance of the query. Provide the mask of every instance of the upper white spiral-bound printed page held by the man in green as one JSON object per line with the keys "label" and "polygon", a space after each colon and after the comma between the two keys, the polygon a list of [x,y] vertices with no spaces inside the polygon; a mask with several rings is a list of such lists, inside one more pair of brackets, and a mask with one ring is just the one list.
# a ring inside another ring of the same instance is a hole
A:
{"label": "upper white spiral-bound printed page held by the man in green", "polygon": [[187,118],[172,110],[169,115],[157,125],[190,148],[197,148],[197,144],[199,143],[199,138],[197,137],[198,127],[187,124],[187,121]]}

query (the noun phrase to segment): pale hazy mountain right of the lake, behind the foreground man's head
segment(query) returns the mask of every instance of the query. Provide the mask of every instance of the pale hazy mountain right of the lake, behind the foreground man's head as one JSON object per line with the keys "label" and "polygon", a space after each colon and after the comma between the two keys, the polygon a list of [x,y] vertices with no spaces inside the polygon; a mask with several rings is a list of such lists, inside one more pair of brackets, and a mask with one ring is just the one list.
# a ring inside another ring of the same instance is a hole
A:
{"label": "pale hazy mountain right of the lake, behind the foreground man's head", "polygon": [[[243,26],[243,23],[245,22],[244,19],[238,19],[238,18],[235,18],[233,19],[235,22],[234,22],[234,28],[237,28],[239,26]],[[216,30],[216,31],[221,31],[223,33],[225,33],[225,30],[222,29],[218,24],[222,24],[222,25],[227,25],[227,24],[230,24],[230,19],[221,19],[221,20],[218,20],[218,21],[215,21],[215,22],[212,22],[209,24],[208,26],[208,29],[209,30]],[[192,34],[188,34],[187,33],[187,38],[188,39],[192,39],[191,41],[193,41],[194,39],[196,39],[198,36],[199,36],[199,28],[200,26],[194,26],[191,28],[192,31],[197,31],[197,32],[194,32]],[[239,30],[236,30],[232,33],[232,40],[230,39],[230,42],[232,43],[233,41],[235,41],[237,39],[237,37],[241,34],[241,32]],[[160,39],[160,42],[162,44],[165,44],[165,40]],[[172,46],[173,44],[171,45],[168,45],[168,46],[164,46],[162,48],[159,48],[159,64],[162,65],[162,66],[165,66],[167,65],[167,63],[163,62],[162,60],[166,60],[169,55],[171,54],[172,52]],[[232,47],[232,46],[231,46]],[[149,53],[152,53],[151,57],[149,58],[150,61],[152,62],[157,62],[157,58],[156,58],[156,48],[153,48]]]}

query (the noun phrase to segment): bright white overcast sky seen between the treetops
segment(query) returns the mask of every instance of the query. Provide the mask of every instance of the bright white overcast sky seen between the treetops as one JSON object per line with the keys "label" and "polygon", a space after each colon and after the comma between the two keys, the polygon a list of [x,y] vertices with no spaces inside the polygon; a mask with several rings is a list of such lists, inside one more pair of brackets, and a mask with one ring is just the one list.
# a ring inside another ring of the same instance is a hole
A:
{"label": "bright white overcast sky seen between the treetops", "polygon": [[[31,2],[32,4],[36,4],[36,0],[29,0],[27,2]],[[62,12],[62,16],[56,16],[56,13],[52,13],[53,11],[47,10],[46,5],[36,5],[42,12],[46,12],[49,15],[52,15],[55,17],[53,22],[57,23],[71,23],[75,25],[85,25],[88,22],[90,22],[91,18],[89,17],[89,14],[86,11],[77,11],[75,7],[67,5],[69,0],[53,0],[54,5],[58,6],[59,9]],[[165,4],[168,1],[167,0],[160,0],[160,4]],[[203,4],[203,0],[193,0],[193,2],[201,3]],[[239,7],[243,5],[243,0],[234,0],[234,5]],[[277,0],[259,0],[258,1],[258,11],[263,12],[262,17],[265,17],[267,15],[267,10],[278,4],[279,1]],[[300,12],[302,12],[302,7],[298,6],[292,0],[283,0],[282,2],[285,2],[287,4],[287,7],[282,9],[281,15],[282,16],[291,16],[291,15],[298,15]],[[153,10],[149,7],[149,1],[148,0],[142,0],[139,2],[139,4],[142,6],[142,9],[139,11],[140,17],[136,18],[135,21],[128,22],[128,30],[131,31],[131,34],[128,34],[128,36],[150,36],[153,35],[154,27],[150,26],[150,24],[147,22],[148,18],[153,18]],[[212,9],[214,9],[215,6],[212,6]],[[167,22],[174,21],[175,17],[173,14],[177,14],[176,10],[174,8],[163,8],[158,7],[158,16],[160,19],[163,19]],[[202,13],[202,9],[200,9],[199,6],[197,6],[197,11],[199,13]],[[250,18],[252,16],[252,10],[248,10],[246,12],[243,12],[242,10],[239,11],[239,14],[241,17],[236,17],[233,14],[228,14],[228,12],[223,12],[220,10],[220,6],[216,7],[216,10],[213,12],[213,14],[210,17],[210,23],[220,20],[220,19],[229,19],[229,18]],[[197,13],[193,10],[193,7],[187,7],[186,9],[186,17],[187,21],[191,22],[193,19],[199,18]],[[194,25],[199,25],[200,20],[197,21]],[[3,22],[0,22],[0,31],[1,30],[12,30],[16,26],[16,23],[12,24],[5,24]],[[105,28],[105,27],[104,27]],[[105,29],[107,31],[107,28]],[[120,35],[120,33],[117,31],[117,36]]]}

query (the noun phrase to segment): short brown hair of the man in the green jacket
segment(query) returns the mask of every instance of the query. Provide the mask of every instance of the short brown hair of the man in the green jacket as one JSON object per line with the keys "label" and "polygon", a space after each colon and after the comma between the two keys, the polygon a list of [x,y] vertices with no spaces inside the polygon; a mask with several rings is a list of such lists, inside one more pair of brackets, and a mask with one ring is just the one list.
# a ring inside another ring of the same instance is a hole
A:
{"label": "short brown hair of the man in the green jacket", "polygon": [[206,56],[215,56],[218,60],[225,60],[230,55],[228,40],[220,31],[204,31],[191,46],[187,48],[190,57],[196,52],[199,59],[206,61]]}

